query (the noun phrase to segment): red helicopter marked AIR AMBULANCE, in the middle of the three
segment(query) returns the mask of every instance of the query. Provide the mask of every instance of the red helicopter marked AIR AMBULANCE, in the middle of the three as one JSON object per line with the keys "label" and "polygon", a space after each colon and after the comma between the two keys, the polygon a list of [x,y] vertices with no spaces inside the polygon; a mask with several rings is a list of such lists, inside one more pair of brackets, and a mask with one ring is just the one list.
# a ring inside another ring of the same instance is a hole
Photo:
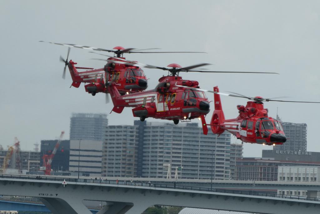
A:
{"label": "red helicopter marked AIR AMBULANCE, in the middle of the three", "polygon": [[194,90],[195,88],[180,88],[178,85],[198,87],[198,82],[194,80],[183,80],[179,77],[179,72],[206,72],[206,73],[267,73],[267,72],[236,72],[236,71],[203,71],[193,70],[195,68],[208,65],[207,63],[192,65],[182,68],[178,64],[170,64],[164,68],[146,65],[139,62],[125,61],[118,59],[106,60],[112,63],[121,63],[130,66],[140,66],[152,69],[167,70],[170,75],[161,77],[159,83],[153,90],[121,95],[115,83],[111,82],[109,92],[114,104],[112,111],[121,113],[124,107],[134,107],[132,113],[134,117],[140,117],[144,121],[148,117],[157,119],[173,120],[174,124],[187,119],[199,118],[206,115],[209,109],[208,99],[203,92]]}

